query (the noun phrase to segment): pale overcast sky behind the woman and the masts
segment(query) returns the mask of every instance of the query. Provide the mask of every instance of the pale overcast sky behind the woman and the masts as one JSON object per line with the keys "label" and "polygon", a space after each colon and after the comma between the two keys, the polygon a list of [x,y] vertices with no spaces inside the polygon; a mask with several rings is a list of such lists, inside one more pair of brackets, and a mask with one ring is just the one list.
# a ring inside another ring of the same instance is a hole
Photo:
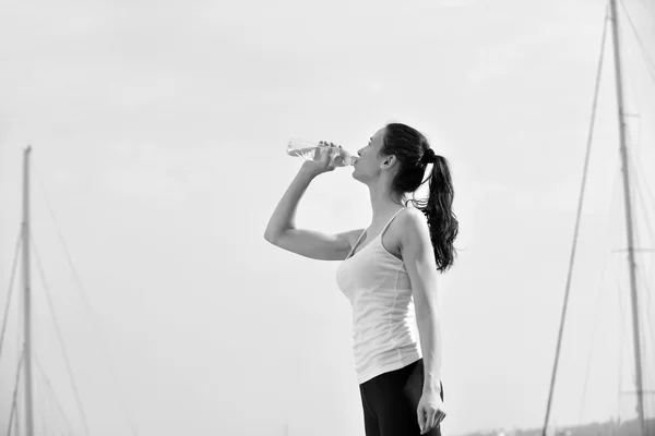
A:
{"label": "pale overcast sky behind the woman and the masts", "polygon": [[[655,58],[655,5],[624,4]],[[454,178],[461,251],[439,280],[444,436],[540,426],[604,14],[591,0],[5,0],[0,303],[31,144],[34,244],[92,434],[133,434],[129,414],[139,435],[283,435],[285,423],[289,435],[364,435],[338,263],[284,252],[263,232],[301,165],[285,154],[289,137],[356,152],[400,121]],[[627,111],[640,116],[628,119],[638,244],[653,249],[655,84],[622,24]],[[558,425],[634,416],[634,398],[619,396],[634,387],[626,259],[611,252],[626,247],[614,80],[608,38]],[[370,225],[352,171],[312,182],[299,227]],[[653,367],[655,261],[639,262]],[[83,435],[36,255],[32,277],[37,429],[68,427],[50,383]],[[1,432],[19,284],[0,356]]]}

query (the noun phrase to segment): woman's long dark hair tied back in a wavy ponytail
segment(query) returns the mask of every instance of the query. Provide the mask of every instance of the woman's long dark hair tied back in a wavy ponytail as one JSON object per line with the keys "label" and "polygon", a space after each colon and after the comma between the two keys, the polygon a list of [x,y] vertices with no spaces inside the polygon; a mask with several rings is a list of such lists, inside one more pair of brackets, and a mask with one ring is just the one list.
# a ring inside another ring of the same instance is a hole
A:
{"label": "woman's long dark hair tied back in a wavy ponytail", "polygon": [[[429,180],[430,194],[427,199],[409,198],[428,219],[430,228],[430,240],[434,249],[437,269],[443,272],[448,270],[455,258],[453,243],[457,237],[458,223],[453,214],[453,182],[448,165],[443,156],[433,154],[428,140],[416,129],[401,123],[386,124],[381,155],[394,155],[401,162],[391,189],[395,193],[415,193],[427,180]],[[424,180],[428,164],[433,165],[429,179]]]}

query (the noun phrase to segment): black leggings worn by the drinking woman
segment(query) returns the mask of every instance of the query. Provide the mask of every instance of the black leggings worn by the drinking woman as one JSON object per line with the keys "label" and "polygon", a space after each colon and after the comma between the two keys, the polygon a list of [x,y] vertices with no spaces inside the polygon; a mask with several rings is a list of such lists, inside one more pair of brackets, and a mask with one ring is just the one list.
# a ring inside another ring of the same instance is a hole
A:
{"label": "black leggings worn by the drinking woman", "polygon": [[[419,359],[359,385],[366,436],[420,435],[417,409],[425,380],[422,363],[422,359]],[[426,435],[441,436],[440,425]]]}

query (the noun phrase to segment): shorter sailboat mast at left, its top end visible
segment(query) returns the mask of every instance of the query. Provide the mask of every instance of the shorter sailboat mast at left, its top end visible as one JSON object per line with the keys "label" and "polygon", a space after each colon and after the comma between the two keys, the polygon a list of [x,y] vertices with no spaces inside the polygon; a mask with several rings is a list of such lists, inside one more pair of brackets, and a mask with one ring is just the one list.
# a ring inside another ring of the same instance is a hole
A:
{"label": "shorter sailboat mast at left, its top end visible", "polygon": [[34,436],[34,416],[32,410],[32,283],[29,280],[29,153],[27,146],[23,159],[23,286],[24,314],[23,329],[25,335],[25,428],[27,436]]}

